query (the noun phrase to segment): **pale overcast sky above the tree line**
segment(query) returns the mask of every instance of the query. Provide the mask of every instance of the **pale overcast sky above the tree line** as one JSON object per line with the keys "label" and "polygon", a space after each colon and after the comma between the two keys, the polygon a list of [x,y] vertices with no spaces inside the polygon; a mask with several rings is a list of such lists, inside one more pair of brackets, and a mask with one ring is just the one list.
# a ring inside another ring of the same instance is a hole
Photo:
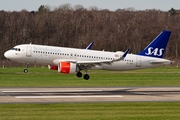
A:
{"label": "pale overcast sky above the tree line", "polygon": [[82,5],[84,8],[96,6],[99,9],[111,11],[133,7],[136,10],[159,9],[168,11],[171,8],[180,9],[180,0],[0,0],[0,10],[28,11],[38,10],[40,5],[58,7],[69,3],[72,6]]}

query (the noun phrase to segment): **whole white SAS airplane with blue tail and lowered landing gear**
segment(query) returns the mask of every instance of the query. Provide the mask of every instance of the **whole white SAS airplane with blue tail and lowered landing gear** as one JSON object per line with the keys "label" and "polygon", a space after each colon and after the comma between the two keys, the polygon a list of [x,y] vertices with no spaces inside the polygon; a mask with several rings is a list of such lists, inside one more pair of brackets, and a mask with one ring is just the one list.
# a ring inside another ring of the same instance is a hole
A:
{"label": "whole white SAS airplane with blue tail and lowered landing gear", "polygon": [[[59,73],[76,74],[85,80],[90,78],[88,70],[135,70],[171,64],[163,59],[171,31],[162,31],[143,51],[138,54],[125,52],[108,52],[67,47],[56,47],[36,44],[21,44],[4,53],[7,59],[25,63],[24,73],[29,64],[48,65]],[[91,47],[90,47],[91,48]],[[83,75],[81,71],[84,70]]]}

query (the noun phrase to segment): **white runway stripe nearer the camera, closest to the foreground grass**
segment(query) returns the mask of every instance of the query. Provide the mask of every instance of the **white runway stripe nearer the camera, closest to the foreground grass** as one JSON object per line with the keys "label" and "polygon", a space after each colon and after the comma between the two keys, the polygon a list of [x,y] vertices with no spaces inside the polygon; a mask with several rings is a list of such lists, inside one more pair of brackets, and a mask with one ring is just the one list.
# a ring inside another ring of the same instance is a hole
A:
{"label": "white runway stripe nearer the camera, closest to the foreground grass", "polygon": [[40,99],[40,98],[121,98],[121,95],[91,95],[91,96],[15,96],[18,99]]}

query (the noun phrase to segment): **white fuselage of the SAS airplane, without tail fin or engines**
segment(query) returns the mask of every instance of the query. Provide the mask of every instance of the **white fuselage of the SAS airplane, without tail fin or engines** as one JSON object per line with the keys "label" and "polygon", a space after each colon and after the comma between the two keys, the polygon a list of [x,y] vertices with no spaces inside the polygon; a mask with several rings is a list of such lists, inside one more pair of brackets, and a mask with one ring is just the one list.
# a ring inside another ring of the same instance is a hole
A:
{"label": "white fuselage of the SAS airplane, without tail fin or engines", "polygon": [[[23,44],[7,51],[4,55],[13,61],[41,64],[41,65],[58,65],[56,60],[75,60],[75,61],[107,61],[116,60],[124,52],[106,52],[86,49],[75,49],[45,45]],[[152,64],[151,61],[163,61],[162,64]],[[127,54],[124,60],[115,61],[111,64],[96,64],[89,69],[105,69],[105,70],[133,70],[141,68],[149,68],[170,64],[171,61],[155,57],[146,57],[135,54]]]}

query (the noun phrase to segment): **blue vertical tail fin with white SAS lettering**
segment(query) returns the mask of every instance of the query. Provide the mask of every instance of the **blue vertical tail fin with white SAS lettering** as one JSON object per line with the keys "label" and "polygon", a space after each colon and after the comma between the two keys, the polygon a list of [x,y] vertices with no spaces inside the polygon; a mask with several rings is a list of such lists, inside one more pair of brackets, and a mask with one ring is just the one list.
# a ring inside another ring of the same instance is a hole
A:
{"label": "blue vertical tail fin with white SAS lettering", "polygon": [[169,41],[171,31],[162,31],[143,51],[138,55],[163,58]]}

